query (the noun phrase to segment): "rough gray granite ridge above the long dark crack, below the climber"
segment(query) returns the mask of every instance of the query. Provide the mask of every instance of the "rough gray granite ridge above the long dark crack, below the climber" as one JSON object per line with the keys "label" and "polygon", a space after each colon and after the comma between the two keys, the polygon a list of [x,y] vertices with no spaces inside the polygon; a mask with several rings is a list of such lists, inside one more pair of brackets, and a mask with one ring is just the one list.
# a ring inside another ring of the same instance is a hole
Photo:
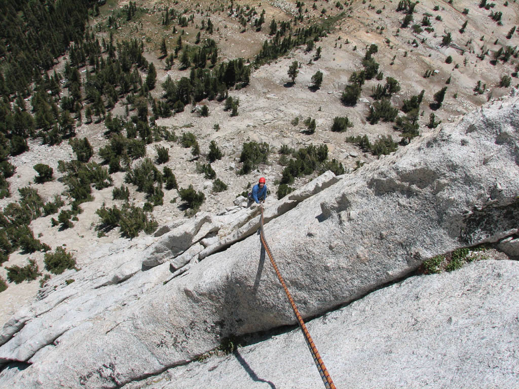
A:
{"label": "rough gray granite ridge above the long dark crack, below the climber", "polygon": [[[434,255],[516,236],[518,107],[517,98],[485,106],[308,197],[269,204],[267,240],[303,316],[399,280]],[[205,233],[195,219],[186,239],[199,246],[169,241],[166,229],[98,255],[68,286],[70,273],[53,279],[4,327],[0,361],[31,365],[4,369],[0,386],[119,387],[182,365],[222,337],[293,324],[254,212]],[[203,248],[210,234],[226,243]],[[180,251],[189,265],[171,269],[172,278],[160,262]],[[145,255],[159,264],[143,270]]]}

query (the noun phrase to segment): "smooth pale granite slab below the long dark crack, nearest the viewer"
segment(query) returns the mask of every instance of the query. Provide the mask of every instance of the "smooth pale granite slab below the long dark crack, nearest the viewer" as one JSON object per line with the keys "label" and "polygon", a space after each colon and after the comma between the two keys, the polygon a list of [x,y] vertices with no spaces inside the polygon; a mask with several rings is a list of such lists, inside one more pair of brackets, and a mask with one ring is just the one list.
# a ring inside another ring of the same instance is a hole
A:
{"label": "smooth pale granite slab below the long dark crack, nearest the viewer", "polygon": [[[453,273],[411,277],[377,290],[307,327],[337,388],[517,387],[517,280],[517,261],[473,262]],[[295,329],[125,389],[183,387],[323,384]]]}

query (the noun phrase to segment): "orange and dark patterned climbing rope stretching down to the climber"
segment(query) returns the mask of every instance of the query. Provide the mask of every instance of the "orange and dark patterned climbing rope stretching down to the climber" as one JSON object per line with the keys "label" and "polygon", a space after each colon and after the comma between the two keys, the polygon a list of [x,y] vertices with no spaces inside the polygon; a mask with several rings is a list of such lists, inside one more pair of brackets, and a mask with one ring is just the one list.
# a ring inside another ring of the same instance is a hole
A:
{"label": "orange and dark patterned climbing rope stretching down to the climber", "polygon": [[285,290],[286,297],[288,297],[290,301],[290,305],[292,306],[292,310],[295,313],[295,316],[297,318],[297,322],[299,323],[299,327],[301,327],[301,330],[303,331],[303,335],[305,336],[306,344],[308,345],[308,349],[310,349],[310,353],[312,354],[313,362],[317,366],[317,370],[319,370],[319,374],[321,374],[321,378],[324,382],[324,387],[326,389],[335,389],[335,385],[333,384],[332,377],[330,377],[330,374],[328,373],[328,370],[326,369],[326,366],[324,366],[324,362],[321,359],[321,356],[319,355],[319,351],[317,351],[316,345],[313,344],[312,337],[310,336],[310,332],[308,332],[308,329],[306,328],[305,322],[303,321],[303,317],[301,316],[301,313],[299,313],[297,306],[294,302],[294,299],[292,298],[292,295],[290,294],[289,289],[285,285],[285,281],[283,280],[283,276],[279,272],[278,266],[276,265],[276,261],[274,260],[274,256],[272,256],[272,253],[270,252],[270,248],[268,247],[267,241],[265,239],[265,231],[263,230],[263,204],[261,206],[261,218],[260,218],[260,240],[263,244],[263,247],[265,248],[265,251],[267,252],[268,257],[270,258],[270,263],[272,263],[272,267],[274,267],[274,270],[276,270],[276,274],[278,275],[279,282],[283,286],[283,289]]}

